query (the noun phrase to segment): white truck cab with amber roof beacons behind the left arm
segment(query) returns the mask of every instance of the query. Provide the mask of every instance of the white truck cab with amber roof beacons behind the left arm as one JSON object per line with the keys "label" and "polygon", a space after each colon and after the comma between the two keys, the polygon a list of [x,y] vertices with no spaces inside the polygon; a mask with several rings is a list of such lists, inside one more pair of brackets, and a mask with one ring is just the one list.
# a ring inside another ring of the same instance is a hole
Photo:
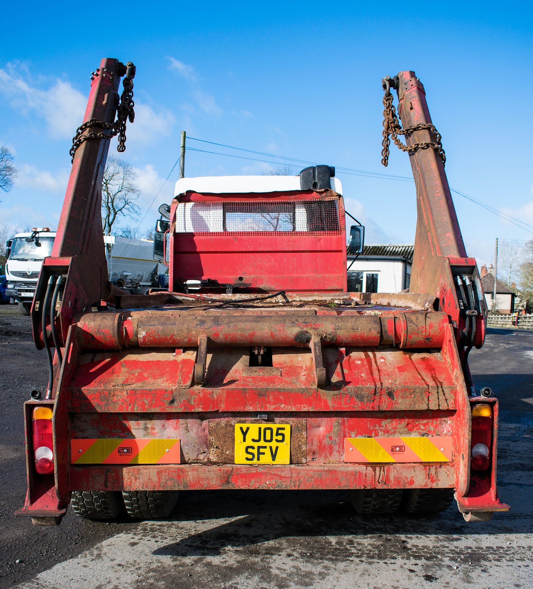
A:
{"label": "white truck cab with amber roof beacons behind the left arm", "polygon": [[18,303],[22,315],[29,315],[42,261],[52,253],[55,231],[34,227],[6,241],[6,296]]}

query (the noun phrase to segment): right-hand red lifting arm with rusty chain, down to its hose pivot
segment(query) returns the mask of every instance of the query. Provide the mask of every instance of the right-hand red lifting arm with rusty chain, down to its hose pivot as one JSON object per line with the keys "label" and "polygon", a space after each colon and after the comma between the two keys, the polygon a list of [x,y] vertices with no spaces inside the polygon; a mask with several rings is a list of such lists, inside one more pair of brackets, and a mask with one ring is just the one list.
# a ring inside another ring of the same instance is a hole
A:
{"label": "right-hand red lifting arm with rusty chain, down to its hose pivot", "polygon": [[[390,90],[397,91],[403,130],[397,125],[396,131],[406,137],[404,150],[409,153],[416,185],[417,225],[409,290],[437,297],[439,310],[452,321],[459,346],[479,348],[485,337],[485,296],[476,262],[466,254],[426,92],[413,71],[387,76],[383,88],[385,103]],[[389,129],[394,131],[394,121]]]}

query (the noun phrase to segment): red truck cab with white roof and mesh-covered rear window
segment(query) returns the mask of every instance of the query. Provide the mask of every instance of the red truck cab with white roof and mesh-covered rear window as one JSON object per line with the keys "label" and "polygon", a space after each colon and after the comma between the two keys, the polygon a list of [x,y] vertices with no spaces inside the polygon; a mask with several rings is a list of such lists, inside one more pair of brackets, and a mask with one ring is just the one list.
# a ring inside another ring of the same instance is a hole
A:
{"label": "red truck cab with white roof and mesh-covered rear window", "polygon": [[170,290],[346,292],[343,188],[334,168],[306,169],[177,181]]}

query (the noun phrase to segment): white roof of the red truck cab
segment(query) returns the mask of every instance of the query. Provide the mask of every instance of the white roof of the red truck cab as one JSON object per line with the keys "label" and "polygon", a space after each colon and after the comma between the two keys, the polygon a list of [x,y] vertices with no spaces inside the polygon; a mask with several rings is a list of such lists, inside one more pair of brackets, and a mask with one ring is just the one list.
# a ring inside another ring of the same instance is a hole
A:
{"label": "white roof of the red truck cab", "polygon": [[[338,178],[331,178],[331,189],[343,194],[343,185]],[[189,190],[199,194],[246,194],[289,192],[301,188],[300,176],[200,176],[180,178],[176,182],[175,196]]]}

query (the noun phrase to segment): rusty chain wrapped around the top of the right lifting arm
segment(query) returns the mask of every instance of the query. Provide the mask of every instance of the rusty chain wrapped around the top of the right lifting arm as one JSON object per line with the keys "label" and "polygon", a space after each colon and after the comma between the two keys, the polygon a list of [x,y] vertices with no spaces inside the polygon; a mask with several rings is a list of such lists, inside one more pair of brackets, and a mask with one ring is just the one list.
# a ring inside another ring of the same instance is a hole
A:
{"label": "rusty chain wrapped around the top of the right lifting arm", "polygon": [[[442,137],[440,133],[436,130],[436,128],[432,124],[423,124],[420,123],[418,125],[413,125],[413,127],[406,127],[402,129],[400,127],[400,121],[396,115],[396,108],[394,107],[393,95],[390,93],[389,88],[387,87],[385,90],[385,95],[383,97],[383,106],[385,107],[383,110],[383,141],[381,141],[381,145],[383,145],[383,149],[381,150],[381,163],[383,166],[387,167],[389,163],[389,145],[390,145],[390,138],[393,138],[394,143],[402,150],[407,151],[407,153],[414,153],[419,149],[434,149],[442,158],[442,163],[446,163],[446,154],[442,148]],[[400,141],[398,135],[405,135],[405,137],[409,137],[411,133],[414,131],[431,131],[433,135],[435,135],[435,141],[423,141],[420,143],[413,143],[412,145],[404,145],[402,141]]]}

